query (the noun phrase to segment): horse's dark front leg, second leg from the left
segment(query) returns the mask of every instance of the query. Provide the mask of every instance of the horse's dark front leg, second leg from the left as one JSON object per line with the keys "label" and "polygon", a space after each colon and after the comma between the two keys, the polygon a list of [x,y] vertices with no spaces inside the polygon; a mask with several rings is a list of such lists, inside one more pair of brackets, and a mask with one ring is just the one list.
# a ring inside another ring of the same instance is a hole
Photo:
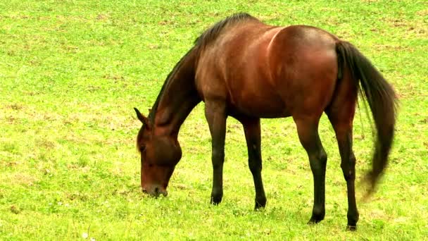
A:
{"label": "horse's dark front leg, second leg from the left", "polygon": [[246,146],[248,149],[248,166],[253,174],[254,187],[256,188],[256,206],[260,209],[266,205],[265,190],[262,181],[262,156],[260,147],[260,118],[240,118],[244,126]]}

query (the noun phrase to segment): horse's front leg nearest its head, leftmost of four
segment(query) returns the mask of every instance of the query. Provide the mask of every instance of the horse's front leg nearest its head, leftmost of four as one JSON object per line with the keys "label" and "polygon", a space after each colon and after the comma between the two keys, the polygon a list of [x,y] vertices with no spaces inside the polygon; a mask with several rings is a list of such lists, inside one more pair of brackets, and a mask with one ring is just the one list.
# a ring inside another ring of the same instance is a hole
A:
{"label": "horse's front leg nearest its head, leftmost of four", "polygon": [[205,116],[212,138],[213,191],[211,192],[211,204],[219,204],[223,197],[223,163],[225,162],[227,116],[224,103],[206,101]]}

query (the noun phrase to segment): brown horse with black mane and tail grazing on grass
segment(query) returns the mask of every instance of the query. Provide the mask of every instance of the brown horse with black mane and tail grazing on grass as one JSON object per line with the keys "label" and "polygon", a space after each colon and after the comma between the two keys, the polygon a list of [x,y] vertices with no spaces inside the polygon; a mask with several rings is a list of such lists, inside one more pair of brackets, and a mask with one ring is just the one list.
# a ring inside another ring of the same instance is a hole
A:
{"label": "brown horse with black mane and tail grazing on grass", "polygon": [[211,203],[222,200],[226,119],[232,116],[244,126],[256,209],[264,207],[260,118],[292,116],[314,178],[309,223],[318,223],[325,216],[327,154],[318,135],[325,112],[336,133],[348,188],[348,229],[355,230],[352,129],[358,92],[367,99],[377,129],[372,171],[367,173],[373,188],[386,167],[396,120],[396,95],[382,74],[352,44],[325,30],[265,25],[246,13],[230,16],[196,39],[166,78],[149,117],[135,109],[143,123],[137,136],[141,188],[154,196],[166,196],[182,156],[177,141],[180,126],[196,104],[204,101],[212,137]]}

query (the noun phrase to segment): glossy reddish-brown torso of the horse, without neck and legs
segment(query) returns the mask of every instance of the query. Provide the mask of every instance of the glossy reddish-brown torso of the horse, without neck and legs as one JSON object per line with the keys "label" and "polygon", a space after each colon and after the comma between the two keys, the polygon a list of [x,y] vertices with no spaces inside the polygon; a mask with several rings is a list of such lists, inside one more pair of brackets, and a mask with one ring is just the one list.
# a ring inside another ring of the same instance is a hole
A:
{"label": "glossy reddish-brown torso of the horse, without neck and legs", "polygon": [[231,113],[277,118],[321,114],[337,78],[336,37],[303,25],[229,27],[201,52],[196,87]]}

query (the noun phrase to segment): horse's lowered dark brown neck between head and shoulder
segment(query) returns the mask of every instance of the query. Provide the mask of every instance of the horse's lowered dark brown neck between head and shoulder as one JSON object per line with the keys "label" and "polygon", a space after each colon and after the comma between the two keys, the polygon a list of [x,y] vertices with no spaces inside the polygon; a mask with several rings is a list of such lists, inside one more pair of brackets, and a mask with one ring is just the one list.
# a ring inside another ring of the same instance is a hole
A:
{"label": "horse's lowered dark brown neck between head and shoulder", "polygon": [[177,64],[161,92],[154,118],[155,135],[177,138],[184,120],[201,99],[195,86],[196,51],[191,50]]}

